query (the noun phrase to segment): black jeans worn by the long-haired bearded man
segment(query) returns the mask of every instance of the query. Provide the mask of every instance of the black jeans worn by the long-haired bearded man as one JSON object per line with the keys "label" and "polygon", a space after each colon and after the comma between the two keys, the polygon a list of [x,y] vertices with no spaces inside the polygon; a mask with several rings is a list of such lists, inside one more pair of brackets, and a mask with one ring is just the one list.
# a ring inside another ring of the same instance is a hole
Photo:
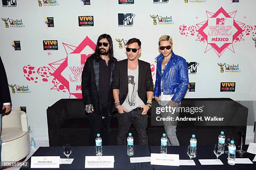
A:
{"label": "black jeans worn by the long-haired bearded man", "polygon": [[[102,115],[108,115],[108,107],[101,107]],[[102,138],[102,145],[108,145],[109,141],[109,132],[110,132],[110,122],[113,114],[110,116],[105,116],[102,118],[101,114],[89,113],[90,119],[90,135],[89,135],[89,145],[95,146],[95,138],[97,133],[100,134]]]}

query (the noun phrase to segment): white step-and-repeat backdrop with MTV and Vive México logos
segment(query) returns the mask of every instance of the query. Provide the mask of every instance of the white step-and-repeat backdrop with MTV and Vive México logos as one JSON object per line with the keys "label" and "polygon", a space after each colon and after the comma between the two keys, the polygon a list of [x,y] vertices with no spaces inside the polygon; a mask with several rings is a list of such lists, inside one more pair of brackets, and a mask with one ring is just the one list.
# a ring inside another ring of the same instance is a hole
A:
{"label": "white step-and-repeat backdrop with MTV and Vive M\u00e9xico logos", "polygon": [[82,98],[81,75],[98,36],[126,58],[130,38],[155,81],[161,35],[187,60],[186,98],[256,100],[255,0],[0,0],[0,56],[13,109],[26,110],[35,138],[47,138],[46,109]]}

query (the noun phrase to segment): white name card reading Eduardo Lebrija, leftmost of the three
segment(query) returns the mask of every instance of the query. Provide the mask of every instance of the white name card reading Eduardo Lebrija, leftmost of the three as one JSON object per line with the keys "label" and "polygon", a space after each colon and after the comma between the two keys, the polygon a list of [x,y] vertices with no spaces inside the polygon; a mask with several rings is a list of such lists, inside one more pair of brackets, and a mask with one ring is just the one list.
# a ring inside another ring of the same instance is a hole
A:
{"label": "white name card reading Eduardo Lebrija, leftmost of the three", "polygon": [[59,156],[33,156],[31,168],[59,168]]}

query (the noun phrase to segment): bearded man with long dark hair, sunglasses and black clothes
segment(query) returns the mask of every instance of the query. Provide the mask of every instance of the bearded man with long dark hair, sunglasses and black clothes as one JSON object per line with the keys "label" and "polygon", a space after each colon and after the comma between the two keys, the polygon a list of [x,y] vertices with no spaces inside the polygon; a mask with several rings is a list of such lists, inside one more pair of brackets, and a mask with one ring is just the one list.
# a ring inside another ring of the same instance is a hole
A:
{"label": "bearded man with long dark hair, sunglasses and black clothes", "polygon": [[90,119],[90,145],[95,145],[98,133],[102,137],[103,145],[108,145],[114,106],[110,85],[116,62],[112,38],[108,34],[102,34],[97,40],[95,53],[87,58],[82,72],[84,111]]}

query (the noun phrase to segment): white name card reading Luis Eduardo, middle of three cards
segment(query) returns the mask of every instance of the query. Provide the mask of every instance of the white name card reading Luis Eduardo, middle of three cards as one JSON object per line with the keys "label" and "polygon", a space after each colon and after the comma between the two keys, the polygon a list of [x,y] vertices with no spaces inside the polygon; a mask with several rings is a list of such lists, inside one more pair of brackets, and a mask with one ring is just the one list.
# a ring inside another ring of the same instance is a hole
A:
{"label": "white name card reading Luis Eduardo, middle of three cards", "polygon": [[114,156],[85,156],[85,168],[114,168]]}

